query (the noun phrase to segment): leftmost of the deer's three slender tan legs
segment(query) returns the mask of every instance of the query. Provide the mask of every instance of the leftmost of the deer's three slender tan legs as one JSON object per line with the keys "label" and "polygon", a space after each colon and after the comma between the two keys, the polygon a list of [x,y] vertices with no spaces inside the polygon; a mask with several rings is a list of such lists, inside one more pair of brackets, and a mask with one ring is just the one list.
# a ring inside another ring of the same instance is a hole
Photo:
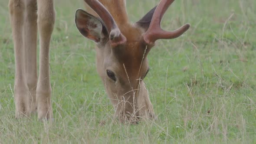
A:
{"label": "leftmost of the deer's three slender tan legs", "polygon": [[24,58],[23,43],[23,26],[25,3],[23,0],[9,1],[10,21],[12,26],[12,35],[15,53],[15,84],[14,84],[14,101],[15,116],[27,115],[29,111],[28,105],[28,87],[26,85],[26,70]]}

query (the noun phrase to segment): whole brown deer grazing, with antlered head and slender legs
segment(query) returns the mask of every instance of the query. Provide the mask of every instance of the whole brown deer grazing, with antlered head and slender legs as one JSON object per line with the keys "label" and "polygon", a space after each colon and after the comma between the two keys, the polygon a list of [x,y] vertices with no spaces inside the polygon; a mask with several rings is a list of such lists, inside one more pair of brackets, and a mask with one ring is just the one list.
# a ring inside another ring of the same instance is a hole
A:
{"label": "whole brown deer grazing, with antlered head and slender legs", "polygon": [[[143,79],[147,55],[158,39],[174,39],[190,27],[161,29],[161,19],[174,0],[161,0],[137,23],[128,21],[125,0],[84,0],[87,12],[77,10],[79,32],[94,41],[96,65],[105,90],[121,121],[155,118]],[[55,11],[53,0],[10,0],[15,49],[16,117],[36,111],[39,119],[52,117],[49,80],[49,42]],[[36,14],[37,10],[37,14]],[[37,20],[37,21],[36,21]],[[39,78],[36,71],[36,35],[40,38]]]}

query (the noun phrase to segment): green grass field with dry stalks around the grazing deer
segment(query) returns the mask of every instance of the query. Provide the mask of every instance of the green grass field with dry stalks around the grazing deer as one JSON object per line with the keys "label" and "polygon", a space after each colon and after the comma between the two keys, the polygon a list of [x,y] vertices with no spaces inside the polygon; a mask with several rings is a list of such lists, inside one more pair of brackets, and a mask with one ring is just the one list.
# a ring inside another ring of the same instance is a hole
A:
{"label": "green grass field with dry stalks around the grazing deer", "polygon": [[[127,0],[136,22],[159,0]],[[15,119],[13,41],[0,1],[0,143],[256,143],[256,1],[176,0],[145,78],[157,121],[119,124],[95,68],[95,45],[75,27],[82,0],[56,0],[51,41],[53,123]]]}

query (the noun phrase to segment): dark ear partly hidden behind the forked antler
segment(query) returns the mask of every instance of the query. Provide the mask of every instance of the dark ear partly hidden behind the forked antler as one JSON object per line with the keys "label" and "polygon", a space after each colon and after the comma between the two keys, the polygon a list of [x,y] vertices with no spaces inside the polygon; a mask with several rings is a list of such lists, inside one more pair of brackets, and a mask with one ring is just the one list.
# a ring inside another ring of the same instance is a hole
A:
{"label": "dark ear partly hidden behind the forked antler", "polygon": [[143,28],[145,31],[147,31],[156,8],[157,8],[157,6],[155,6],[153,9],[151,9],[145,16],[143,16],[141,18],[141,20],[136,22],[136,24],[138,26],[140,26],[141,28]]}

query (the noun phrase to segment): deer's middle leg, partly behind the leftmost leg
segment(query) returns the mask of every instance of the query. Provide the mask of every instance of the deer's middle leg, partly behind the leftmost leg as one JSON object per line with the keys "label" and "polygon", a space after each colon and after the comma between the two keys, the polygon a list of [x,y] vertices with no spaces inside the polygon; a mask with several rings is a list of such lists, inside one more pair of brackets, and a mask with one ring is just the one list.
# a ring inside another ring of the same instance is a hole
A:
{"label": "deer's middle leg, partly behind the leftmost leg", "polygon": [[36,41],[37,41],[37,5],[36,0],[26,0],[24,23],[24,46],[26,58],[26,82],[29,88],[30,114],[36,112]]}

